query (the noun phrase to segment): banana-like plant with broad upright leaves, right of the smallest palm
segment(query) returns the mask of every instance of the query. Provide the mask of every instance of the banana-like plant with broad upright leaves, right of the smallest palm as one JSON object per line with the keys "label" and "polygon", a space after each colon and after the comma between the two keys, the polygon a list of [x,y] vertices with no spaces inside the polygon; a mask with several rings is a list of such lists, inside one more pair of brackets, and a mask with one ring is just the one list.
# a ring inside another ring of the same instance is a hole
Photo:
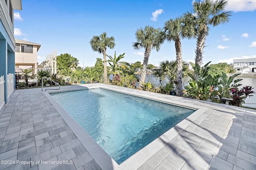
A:
{"label": "banana-like plant with broad upright leaves, right of the smallest palm", "polygon": [[120,74],[122,72],[122,69],[129,69],[128,68],[128,66],[130,66],[129,63],[120,61],[121,59],[124,58],[124,54],[125,53],[123,53],[122,55],[118,55],[118,57],[116,57],[116,51],[115,51],[114,58],[111,57],[110,55],[107,55],[109,58],[108,63],[111,69],[110,74],[113,74],[113,77],[114,77],[114,74],[118,74],[118,73]]}

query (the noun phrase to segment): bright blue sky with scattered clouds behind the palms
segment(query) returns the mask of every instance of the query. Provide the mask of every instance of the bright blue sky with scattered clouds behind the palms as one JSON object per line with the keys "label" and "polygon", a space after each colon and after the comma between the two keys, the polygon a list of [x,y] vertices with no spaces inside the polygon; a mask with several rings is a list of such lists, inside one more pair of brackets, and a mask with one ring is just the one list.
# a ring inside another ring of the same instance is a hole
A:
{"label": "bright blue sky with scattered clouds behind the palms", "polygon": [[[125,53],[123,61],[143,62],[144,49],[134,50],[136,29],[145,25],[163,27],[170,18],[192,10],[192,0],[22,0],[22,11],[14,11],[14,35],[41,44],[38,63],[54,49],[57,55],[69,53],[79,66],[93,66],[102,54],[93,52],[90,39],[103,32],[115,38],[107,55]],[[256,58],[256,0],[229,0],[230,21],[210,27],[203,63],[232,63],[233,59]],[[182,40],[182,59],[194,61],[196,40]],[[174,42],[165,42],[160,51],[152,50],[149,63],[175,60]]]}

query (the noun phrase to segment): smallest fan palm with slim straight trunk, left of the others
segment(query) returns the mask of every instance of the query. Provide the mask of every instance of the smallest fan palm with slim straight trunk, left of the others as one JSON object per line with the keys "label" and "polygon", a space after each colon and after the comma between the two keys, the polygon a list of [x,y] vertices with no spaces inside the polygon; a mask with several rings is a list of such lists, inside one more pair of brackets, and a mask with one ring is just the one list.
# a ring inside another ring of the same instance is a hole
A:
{"label": "smallest fan palm with slim straight trunk, left of the others", "polygon": [[103,70],[103,83],[108,84],[108,72],[107,72],[107,59],[106,59],[106,50],[107,47],[113,49],[115,47],[114,37],[107,37],[107,33],[104,32],[100,36],[93,36],[90,40],[90,45],[92,51],[97,51],[100,54],[103,54],[104,61],[104,70]]}

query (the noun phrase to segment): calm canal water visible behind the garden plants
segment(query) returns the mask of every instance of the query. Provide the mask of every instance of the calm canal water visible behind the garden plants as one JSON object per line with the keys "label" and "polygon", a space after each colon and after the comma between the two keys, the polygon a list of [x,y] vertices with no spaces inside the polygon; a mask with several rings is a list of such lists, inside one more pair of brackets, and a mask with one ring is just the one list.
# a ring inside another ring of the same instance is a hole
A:
{"label": "calm canal water visible behind the garden plants", "polygon": [[[140,78],[140,75],[136,75],[137,77]],[[235,79],[243,79],[242,81],[240,81],[239,83],[242,84],[242,86],[239,86],[238,88],[242,88],[243,86],[252,86],[252,88],[254,88],[254,92],[256,92],[256,77],[236,77]],[[154,84],[154,86],[160,86],[160,82],[159,82],[159,78],[156,78],[154,75],[146,75],[146,82],[150,82],[152,84]],[[167,80],[162,80],[162,83],[165,84]],[[188,84],[189,81],[189,77],[185,77],[183,78],[183,84]],[[245,100],[245,104],[242,104],[243,106],[246,107],[253,107],[256,108],[256,93],[253,94],[254,96],[252,97],[248,97]]]}

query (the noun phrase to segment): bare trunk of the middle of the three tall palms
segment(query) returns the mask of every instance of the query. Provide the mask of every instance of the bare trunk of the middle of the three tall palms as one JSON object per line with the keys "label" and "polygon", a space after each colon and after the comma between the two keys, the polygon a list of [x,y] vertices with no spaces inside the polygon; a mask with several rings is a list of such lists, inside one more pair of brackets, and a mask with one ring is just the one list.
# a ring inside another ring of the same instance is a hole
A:
{"label": "bare trunk of the middle of the three tall palms", "polygon": [[183,69],[183,63],[182,63],[182,56],[181,56],[181,42],[180,39],[177,39],[175,41],[175,49],[176,49],[176,64],[177,64],[177,78],[176,78],[176,94],[178,96],[182,95],[182,69]]}

